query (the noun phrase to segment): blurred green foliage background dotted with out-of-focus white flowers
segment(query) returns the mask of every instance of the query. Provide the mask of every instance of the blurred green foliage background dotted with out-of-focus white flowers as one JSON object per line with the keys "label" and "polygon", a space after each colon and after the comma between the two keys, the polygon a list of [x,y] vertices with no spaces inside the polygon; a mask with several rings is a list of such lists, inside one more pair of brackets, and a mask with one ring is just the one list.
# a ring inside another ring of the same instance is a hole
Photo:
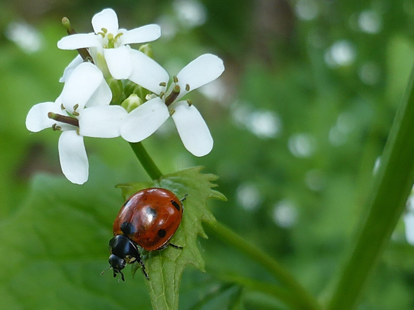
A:
{"label": "blurred green foliage background dotted with out-of-focus white flowers", "polygon": [[[31,106],[60,94],[76,55],[56,47],[61,18],[87,33],[105,7],[121,28],[161,26],[152,47],[171,74],[205,52],[224,60],[224,74],[191,93],[212,152],[188,153],[171,119],[144,145],[164,173],[203,165],[217,174],[229,201],[209,202],[215,217],[323,296],[364,215],[411,71],[414,0],[0,2],[1,308],[151,309],[142,277],[99,275],[122,205],[113,186],[149,181],[128,143],[85,138],[90,177],[76,186],[60,172],[59,134],[24,125]],[[262,267],[215,238],[200,238],[200,248],[207,273],[185,270],[180,309],[231,308],[238,294],[241,309],[284,309],[221,280],[273,281]],[[402,220],[358,309],[414,309],[414,248]]]}

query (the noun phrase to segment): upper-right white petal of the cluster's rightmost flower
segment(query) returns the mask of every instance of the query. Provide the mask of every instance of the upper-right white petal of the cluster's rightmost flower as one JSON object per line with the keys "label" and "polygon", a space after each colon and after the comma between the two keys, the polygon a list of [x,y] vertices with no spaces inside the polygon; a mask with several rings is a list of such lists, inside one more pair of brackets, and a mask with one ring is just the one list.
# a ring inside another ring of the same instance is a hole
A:
{"label": "upper-right white petal of the cluster's rightmost flower", "polygon": [[224,71],[223,60],[216,55],[204,54],[186,65],[178,74],[178,85],[181,87],[180,95],[183,97],[188,91],[185,84],[190,86],[190,91],[199,88],[217,79]]}

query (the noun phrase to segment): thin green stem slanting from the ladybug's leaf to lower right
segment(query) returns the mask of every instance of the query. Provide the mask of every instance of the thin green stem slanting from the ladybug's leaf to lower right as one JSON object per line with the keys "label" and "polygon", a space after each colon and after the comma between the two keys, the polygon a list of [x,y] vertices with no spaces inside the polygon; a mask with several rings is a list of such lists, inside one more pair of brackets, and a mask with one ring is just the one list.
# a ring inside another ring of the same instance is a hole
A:
{"label": "thin green stem slanting from the ladybug's leaf to lower right", "polygon": [[301,300],[303,310],[320,309],[316,299],[299,284],[296,279],[284,269],[278,262],[276,262],[270,255],[260,250],[260,248],[248,243],[243,237],[236,234],[234,231],[224,226],[219,222],[206,222],[212,233],[219,237],[222,241],[240,250],[255,262],[260,263],[263,267],[269,270],[273,276],[286,286],[287,289],[296,296],[297,300]]}

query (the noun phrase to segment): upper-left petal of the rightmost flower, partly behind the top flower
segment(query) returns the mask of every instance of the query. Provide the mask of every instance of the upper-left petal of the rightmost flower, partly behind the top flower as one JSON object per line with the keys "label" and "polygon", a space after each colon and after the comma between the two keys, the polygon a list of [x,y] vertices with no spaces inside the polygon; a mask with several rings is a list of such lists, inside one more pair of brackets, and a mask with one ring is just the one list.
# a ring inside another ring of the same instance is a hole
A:
{"label": "upper-left petal of the rightmost flower, partly behind the top flower", "polygon": [[138,50],[131,49],[130,55],[132,74],[129,79],[156,94],[165,90],[165,87],[159,85],[161,82],[168,83],[170,79],[164,68]]}

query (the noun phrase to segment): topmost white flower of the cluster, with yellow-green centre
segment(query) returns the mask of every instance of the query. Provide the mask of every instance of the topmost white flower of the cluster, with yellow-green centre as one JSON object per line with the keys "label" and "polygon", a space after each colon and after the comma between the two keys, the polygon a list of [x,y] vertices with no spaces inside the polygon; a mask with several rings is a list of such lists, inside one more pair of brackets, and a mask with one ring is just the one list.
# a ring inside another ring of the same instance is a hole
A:
{"label": "topmost white flower of the cluster, with yellow-green centre", "polygon": [[[127,44],[151,42],[161,36],[158,25],[150,24],[132,30],[118,29],[118,17],[112,9],[105,9],[92,18],[95,33],[77,33],[66,36],[58,42],[62,50],[89,48],[91,56],[97,63],[97,55],[103,54],[109,72],[115,79],[128,79],[131,74],[131,48]],[[75,58],[79,64],[80,56]],[[66,70],[65,70],[66,73]],[[65,74],[63,76],[65,79]]]}

